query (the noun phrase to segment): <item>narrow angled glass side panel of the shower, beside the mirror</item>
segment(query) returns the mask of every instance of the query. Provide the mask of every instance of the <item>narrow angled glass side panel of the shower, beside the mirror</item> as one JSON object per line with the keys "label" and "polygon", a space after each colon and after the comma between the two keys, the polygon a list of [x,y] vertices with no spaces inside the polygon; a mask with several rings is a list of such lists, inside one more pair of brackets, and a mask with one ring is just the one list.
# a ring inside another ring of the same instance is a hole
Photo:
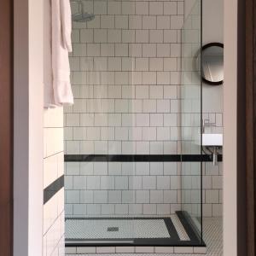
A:
{"label": "narrow angled glass side panel of the shower, beside the mirror", "polygon": [[182,211],[201,239],[201,0],[182,29]]}

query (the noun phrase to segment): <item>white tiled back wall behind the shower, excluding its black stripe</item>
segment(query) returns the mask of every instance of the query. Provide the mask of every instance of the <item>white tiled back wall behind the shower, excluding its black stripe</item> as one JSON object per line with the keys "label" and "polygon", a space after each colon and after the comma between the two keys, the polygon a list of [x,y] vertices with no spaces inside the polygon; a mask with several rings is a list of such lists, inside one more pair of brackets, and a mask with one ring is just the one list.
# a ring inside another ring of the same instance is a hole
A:
{"label": "white tiled back wall behind the shower, excluding its black stripe", "polygon": [[[180,154],[183,1],[83,3],[96,16],[73,23],[75,101],[64,108],[65,154]],[[75,13],[79,4],[72,3],[72,9]],[[66,163],[65,174],[69,217],[181,209],[176,162]],[[212,215],[221,212],[219,188],[212,177],[204,193],[208,215],[209,208]]]}

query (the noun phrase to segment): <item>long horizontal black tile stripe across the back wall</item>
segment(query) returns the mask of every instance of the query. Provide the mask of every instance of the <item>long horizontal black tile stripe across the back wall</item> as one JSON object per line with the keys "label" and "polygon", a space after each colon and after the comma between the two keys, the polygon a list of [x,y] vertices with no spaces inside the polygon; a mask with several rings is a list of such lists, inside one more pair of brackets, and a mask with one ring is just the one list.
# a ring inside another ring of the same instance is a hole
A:
{"label": "long horizontal black tile stripe across the back wall", "polygon": [[[211,162],[208,154],[65,154],[65,162]],[[222,161],[222,154],[218,154]]]}

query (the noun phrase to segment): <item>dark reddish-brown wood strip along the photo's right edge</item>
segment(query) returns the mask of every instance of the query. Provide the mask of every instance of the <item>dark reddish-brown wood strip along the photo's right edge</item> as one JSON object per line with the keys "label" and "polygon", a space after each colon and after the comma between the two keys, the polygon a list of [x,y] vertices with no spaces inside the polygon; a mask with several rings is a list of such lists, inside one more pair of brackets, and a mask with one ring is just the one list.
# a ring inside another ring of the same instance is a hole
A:
{"label": "dark reddish-brown wood strip along the photo's right edge", "polygon": [[247,255],[255,251],[256,205],[256,0],[246,0]]}

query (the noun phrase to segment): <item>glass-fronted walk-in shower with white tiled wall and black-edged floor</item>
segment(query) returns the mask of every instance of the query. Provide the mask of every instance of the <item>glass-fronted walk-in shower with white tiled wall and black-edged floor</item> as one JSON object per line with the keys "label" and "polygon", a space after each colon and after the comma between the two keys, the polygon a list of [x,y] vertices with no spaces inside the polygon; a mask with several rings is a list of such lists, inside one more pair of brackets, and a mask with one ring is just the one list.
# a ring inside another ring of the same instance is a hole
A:
{"label": "glass-fronted walk-in shower with white tiled wall and black-edged floor", "polygon": [[204,246],[201,1],[71,3],[66,246]]}

